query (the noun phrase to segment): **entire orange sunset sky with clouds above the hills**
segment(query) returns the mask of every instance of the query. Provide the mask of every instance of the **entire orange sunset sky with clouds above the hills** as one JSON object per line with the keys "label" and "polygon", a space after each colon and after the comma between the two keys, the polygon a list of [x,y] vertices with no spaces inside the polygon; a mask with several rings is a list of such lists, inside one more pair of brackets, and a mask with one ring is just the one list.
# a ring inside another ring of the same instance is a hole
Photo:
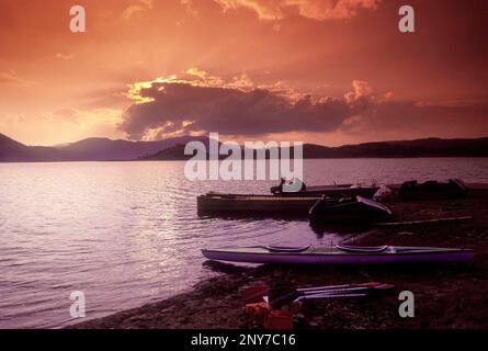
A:
{"label": "entire orange sunset sky with clouds above the hills", "polygon": [[[71,33],[70,7],[87,32]],[[400,33],[398,10],[415,10]],[[488,136],[486,0],[1,0],[0,133]]]}

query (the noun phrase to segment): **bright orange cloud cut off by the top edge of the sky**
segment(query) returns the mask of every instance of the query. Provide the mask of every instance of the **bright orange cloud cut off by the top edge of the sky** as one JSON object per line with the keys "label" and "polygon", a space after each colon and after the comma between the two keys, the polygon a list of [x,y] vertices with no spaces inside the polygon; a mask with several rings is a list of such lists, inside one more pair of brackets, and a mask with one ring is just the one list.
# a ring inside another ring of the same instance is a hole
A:
{"label": "bright orange cloud cut off by the top edge of the sky", "polygon": [[283,20],[288,14],[326,21],[352,19],[361,9],[375,10],[381,0],[215,0],[224,11],[248,8],[264,21]]}

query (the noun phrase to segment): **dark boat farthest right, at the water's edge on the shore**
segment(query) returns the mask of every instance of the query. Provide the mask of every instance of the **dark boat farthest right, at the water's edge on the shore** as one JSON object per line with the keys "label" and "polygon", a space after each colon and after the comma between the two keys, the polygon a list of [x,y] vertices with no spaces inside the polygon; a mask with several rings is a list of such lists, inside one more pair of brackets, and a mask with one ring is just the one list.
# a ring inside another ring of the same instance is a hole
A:
{"label": "dark boat farthest right, at the water's edge on the shore", "polygon": [[462,197],[468,193],[468,186],[458,178],[445,182],[429,180],[419,183],[416,180],[405,182],[398,189],[400,199],[452,199]]}

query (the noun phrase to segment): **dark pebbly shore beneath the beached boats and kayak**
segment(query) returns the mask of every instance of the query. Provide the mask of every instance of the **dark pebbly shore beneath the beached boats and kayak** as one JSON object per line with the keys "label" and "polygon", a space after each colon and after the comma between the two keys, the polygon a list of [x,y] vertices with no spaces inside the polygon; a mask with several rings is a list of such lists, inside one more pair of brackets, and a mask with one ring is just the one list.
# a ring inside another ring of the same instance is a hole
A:
{"label": "dark pebbly shore beneath the beached boats and kayak", "polygon": [[[328,285],[381,281],[391,292],[361,299],[310,301],[303,305],[299,328],[488,328],[488,191],[473,190],[465,199],[395,201],[388,206],[398,220],[473,216],[459,223],[420,224],[378,228],[349,237],[356,245],[467,247],[475,258],[461,263],[416,263],[362,267],[237,267],[207,261],[222,274],[195,284],[191,291],[141,307],[67,326],[75,329],[247,329],[240,290],[250,285],[286,282],[290,285]],[[401,291],[415,294],[416,316],[400,318]]]}

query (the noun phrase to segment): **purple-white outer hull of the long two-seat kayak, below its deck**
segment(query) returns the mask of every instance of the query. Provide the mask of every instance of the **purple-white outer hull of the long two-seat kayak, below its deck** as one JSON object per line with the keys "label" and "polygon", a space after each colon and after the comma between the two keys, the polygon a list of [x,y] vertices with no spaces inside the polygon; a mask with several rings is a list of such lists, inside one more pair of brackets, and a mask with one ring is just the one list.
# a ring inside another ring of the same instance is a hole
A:
{"label": "purple-white outer hull of the long two-seat kayak, below its deck", "polygon": [[386,264],[406,262],[454,262],[473,259],[473,251],[466,249],[425,249],[416,252],[245,252],[227,250],[202,250],[211,260],[246,262],[246,263],[280,263],[280,264]]}

